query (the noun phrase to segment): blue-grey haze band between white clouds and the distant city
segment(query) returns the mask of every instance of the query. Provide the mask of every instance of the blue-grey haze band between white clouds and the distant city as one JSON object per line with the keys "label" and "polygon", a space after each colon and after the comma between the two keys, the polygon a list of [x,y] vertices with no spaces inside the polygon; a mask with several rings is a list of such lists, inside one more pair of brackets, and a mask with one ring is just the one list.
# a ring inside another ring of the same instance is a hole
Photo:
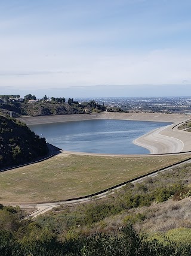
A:
{"label": "blue-grey haze band between white clouds and the distant city", "polygon": [[55,89],[1,89],[0,94],[19,94],[20,97],[32,94],[36,98],[47,97],[64,97],[64,98],[128,98],[128,97],[187,97],[191,96],[191,86],[182,85],[162,85],[153,88],[150,86],[84,86],[71,88]]}

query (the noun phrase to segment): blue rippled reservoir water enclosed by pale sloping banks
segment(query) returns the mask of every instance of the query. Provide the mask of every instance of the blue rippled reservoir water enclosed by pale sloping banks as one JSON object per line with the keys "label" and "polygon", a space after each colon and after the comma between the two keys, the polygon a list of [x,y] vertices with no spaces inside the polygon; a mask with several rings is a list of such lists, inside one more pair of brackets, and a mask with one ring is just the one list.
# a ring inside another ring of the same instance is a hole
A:
{"label": "blue rippled reservoir water enclosed by pale sloping banks", "polygon": [[146,154],[144,147],[133,144],[135,138],[171,123],[91,120],[30,125],[30,129],[48,143],[63,150],[88,153]]}

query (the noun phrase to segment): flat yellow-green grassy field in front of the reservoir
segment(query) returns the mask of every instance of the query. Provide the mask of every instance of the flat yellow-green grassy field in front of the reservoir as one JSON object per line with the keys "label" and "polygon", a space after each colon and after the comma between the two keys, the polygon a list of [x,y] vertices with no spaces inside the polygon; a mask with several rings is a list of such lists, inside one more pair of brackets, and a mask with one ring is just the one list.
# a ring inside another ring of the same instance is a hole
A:
{"label": "flat yellow-green grassy field in front of the reservoir", "polygon": [[37,164],[0,173],[0,202],[39,202],[88,195],[187,159],[168,156],[90,156],[60,153]]}

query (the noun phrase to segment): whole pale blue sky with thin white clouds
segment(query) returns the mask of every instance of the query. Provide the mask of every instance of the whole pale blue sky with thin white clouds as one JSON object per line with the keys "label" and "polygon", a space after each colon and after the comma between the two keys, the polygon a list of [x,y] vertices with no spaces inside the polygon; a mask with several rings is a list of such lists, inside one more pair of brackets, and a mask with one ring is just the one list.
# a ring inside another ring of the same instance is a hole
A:
{"label": "whole pale blue sky with thin white clouds", "polygon": [[191,95],[190,0],[1,0],[0,94]]}

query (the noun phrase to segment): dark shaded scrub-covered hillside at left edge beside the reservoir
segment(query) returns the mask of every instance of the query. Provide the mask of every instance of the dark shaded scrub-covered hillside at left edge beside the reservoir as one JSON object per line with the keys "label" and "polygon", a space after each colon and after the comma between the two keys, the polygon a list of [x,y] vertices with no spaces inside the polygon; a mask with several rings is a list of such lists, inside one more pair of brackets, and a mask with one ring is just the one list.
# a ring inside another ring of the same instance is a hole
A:
{"label": "dark shaded scrub-covered hillside at left edge beside the reservoir", "polygon": [[32,161],[47,151],[45,138],[15,119],[0,116],[0,168]]}

